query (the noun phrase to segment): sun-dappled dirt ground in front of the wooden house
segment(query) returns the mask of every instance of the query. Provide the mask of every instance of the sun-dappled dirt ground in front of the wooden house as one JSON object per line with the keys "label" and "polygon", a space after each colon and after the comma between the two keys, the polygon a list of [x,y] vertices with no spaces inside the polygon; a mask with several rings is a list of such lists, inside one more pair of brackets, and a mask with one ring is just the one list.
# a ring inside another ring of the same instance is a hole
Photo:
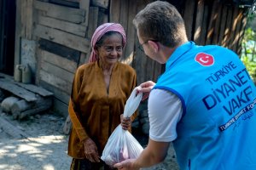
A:
{"label": "sun-dappled dirt ground in front of the wooden house", "polygon": [[[52,112],[30,116],[17,121],[0,111],[0,116],[22,132],[26,137],[15,139],[0,126],[0,170],[68,170],[71,158],[67,156],[68,136],[62,133],[65,118]],[[137,134],[145,146],[145,136]],[[147,170],[178,170],[172,147],[166,160]]]}

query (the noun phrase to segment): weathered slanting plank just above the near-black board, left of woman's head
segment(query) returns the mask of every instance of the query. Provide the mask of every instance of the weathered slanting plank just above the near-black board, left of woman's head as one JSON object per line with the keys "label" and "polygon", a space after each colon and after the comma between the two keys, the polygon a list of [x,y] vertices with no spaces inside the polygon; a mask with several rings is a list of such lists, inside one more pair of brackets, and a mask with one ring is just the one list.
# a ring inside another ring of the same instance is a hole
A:
{"label": "weathered slanting plank just above the near-black board, left of woman's head", "polygon": [[34,34],[38,37],[60,43],[63,46],[77,49],[84,53],[88,53],[90,50],[90,41],[87,38],[75,36],[64,31],[37,25],[34,30]]}

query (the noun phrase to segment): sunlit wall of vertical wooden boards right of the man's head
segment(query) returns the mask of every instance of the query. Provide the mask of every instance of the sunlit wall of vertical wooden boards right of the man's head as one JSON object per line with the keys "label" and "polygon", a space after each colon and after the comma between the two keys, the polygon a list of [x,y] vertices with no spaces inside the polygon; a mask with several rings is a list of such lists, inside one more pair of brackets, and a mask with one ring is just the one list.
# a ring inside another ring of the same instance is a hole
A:
{"label": "sunlit wall of vertical wooden boards right of the man's head", "polygon": [[241,54],[247,8],[217,0],[190,0],[181,13],[190,40],[200,45],[218,44]]}

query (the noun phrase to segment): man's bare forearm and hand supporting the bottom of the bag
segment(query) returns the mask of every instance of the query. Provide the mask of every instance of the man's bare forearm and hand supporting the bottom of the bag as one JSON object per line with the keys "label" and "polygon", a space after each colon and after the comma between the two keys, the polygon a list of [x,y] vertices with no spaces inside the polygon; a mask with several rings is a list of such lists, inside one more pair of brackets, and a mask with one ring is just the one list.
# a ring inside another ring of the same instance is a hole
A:
{"label": "man's bare forearm and hand supporting the bottom of the bag", "polygon": [[164,161],[170,142],[156,142],[149,139],[148,146],[137,159],[129,159],[116,163],[113,167],[124,170],[135,170],[141,167],[151,167]]}

